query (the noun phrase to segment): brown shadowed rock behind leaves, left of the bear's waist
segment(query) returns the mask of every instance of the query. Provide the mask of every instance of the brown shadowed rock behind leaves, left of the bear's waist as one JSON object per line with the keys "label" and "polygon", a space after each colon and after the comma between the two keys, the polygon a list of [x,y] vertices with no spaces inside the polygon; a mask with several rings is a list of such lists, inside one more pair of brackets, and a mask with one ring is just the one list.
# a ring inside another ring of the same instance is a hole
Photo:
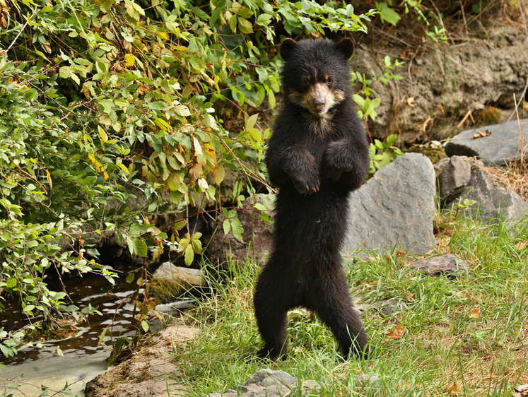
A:
{"label": "brown shadowed rock behind leaves, left of the bear's waist", "polygon": [[[248,197],[242,209],[237,211],[237,218],[244,228],[243,242],[235,238],[232,231],[225,235],[222,227],[225,218],[222,215],[218,218],[216,233],[210,237],[204,253],[211,263],[217,263],[217,268],[226,270],[228,259],[242,265],[248,257],[264,266],[268,252],[271,251],[271,227],[260,218],[260,211],[253,208],[253,203],[254,199]],[[269,204],[266,197],[259,198],[259,203],[264,206]]]}

